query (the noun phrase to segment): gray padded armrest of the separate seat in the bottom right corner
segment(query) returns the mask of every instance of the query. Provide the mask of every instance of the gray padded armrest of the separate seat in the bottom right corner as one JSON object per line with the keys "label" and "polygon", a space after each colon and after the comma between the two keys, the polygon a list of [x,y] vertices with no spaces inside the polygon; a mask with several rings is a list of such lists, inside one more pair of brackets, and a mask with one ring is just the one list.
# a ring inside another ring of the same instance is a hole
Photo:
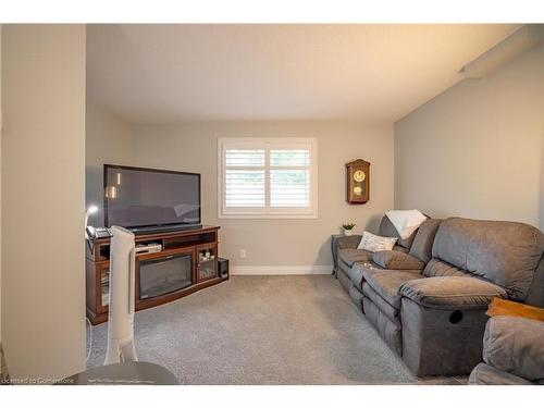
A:
{"label": "gray padded armrest of the separate seat in the bottom right corner", "polygon": [[544,379],[544,322],[497,316],[483,337],[483,360],[529,381]]}

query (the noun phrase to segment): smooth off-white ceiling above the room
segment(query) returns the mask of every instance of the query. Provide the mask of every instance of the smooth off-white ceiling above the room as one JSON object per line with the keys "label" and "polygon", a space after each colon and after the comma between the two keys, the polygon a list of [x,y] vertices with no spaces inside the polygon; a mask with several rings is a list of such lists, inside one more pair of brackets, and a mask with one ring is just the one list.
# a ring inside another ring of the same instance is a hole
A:
{"label": "smooth off-white ceiling above the room", "polygon": [[132,123],[396,121],[518,25],[89,25],[87,94]]}

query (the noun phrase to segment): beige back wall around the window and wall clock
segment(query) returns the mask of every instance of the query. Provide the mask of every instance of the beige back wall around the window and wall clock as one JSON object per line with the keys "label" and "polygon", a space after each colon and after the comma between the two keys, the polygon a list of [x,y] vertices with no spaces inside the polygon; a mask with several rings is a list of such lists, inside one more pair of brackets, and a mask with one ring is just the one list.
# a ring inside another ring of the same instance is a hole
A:
{"label": "beige back wall around the window and wall clock", "polygon": [[[218,219],[218,137],[317,137],[319,218],[314,220]],[[134,126],[135,158],[126,164],[202,174],[202,217],[221,225],[221,252],[235,267],[281,265],[276,272],[330,272],[331,234],[344,222],[378,228],[393,207],[393,125],[333,122],[243,122]],[[345,163],[371,162],[371,199],[345,201]],[[246,258],[239,258],[239,249]],[[288,267],[301,265],[292,269]],[[314,268],[318,267],[318,268]],[[319,268],[322,267],[322,268]],[[251,272],[251,268],[243,268]],[[254,269],[258,270],[258,269]],[[260,270],[262,271],[262,270]],[[238,269],[238,272],[242,270]]]}

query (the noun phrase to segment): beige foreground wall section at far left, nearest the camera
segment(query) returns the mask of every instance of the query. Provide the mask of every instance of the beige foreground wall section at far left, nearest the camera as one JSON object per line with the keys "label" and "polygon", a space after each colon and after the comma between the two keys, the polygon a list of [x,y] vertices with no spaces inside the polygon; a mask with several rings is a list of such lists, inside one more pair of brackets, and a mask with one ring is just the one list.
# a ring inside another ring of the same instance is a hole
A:
{"label": "beige foreground wall section at far left, nearest the camera", "polygon": [[85,26],[2,30],[2,345],[47,381],[85,369]]}

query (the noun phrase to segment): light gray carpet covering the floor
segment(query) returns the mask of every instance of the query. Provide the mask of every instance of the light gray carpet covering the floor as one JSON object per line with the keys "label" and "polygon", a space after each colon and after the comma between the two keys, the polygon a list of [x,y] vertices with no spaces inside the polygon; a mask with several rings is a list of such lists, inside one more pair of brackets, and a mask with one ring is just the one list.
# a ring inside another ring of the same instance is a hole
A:
{"label": "light gray carpet covering the floor", "polygon": [[[94,326],[89,366],[106,356]],[[136,313],[141,361],[182,384],[461,384],[417,379],[330,275],[233,276]]]}

